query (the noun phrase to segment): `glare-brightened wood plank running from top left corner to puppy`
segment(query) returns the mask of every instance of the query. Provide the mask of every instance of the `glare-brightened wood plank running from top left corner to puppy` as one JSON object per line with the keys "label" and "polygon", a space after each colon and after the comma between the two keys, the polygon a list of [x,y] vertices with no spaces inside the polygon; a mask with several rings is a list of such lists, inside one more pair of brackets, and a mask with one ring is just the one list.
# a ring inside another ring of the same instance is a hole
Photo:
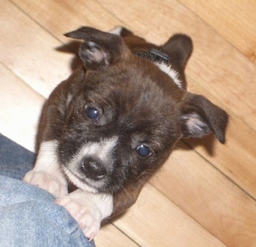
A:
{"label": "glare-brightened wood plank running from top left corner to puppy", "polygon": [[0,22],[0,61],[47,97],[72,72],[74,54],[56,50],[61,42],[10,1],[1,1]]}

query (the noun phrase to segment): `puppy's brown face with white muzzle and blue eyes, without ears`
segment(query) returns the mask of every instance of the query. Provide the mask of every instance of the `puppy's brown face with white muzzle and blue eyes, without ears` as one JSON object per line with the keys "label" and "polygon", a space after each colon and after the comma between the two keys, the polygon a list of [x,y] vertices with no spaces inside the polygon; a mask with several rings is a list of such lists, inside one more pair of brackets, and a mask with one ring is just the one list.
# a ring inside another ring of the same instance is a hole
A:
{"label": "puppy's brown face with white muzzle and blue eyes, without ears", "polygon": [[117,191],[151,175],[181,137],[177,102],[167,93],[176,86],[142,59],[87,72],[69,102],[59,151],[65,172],[83,189]]}

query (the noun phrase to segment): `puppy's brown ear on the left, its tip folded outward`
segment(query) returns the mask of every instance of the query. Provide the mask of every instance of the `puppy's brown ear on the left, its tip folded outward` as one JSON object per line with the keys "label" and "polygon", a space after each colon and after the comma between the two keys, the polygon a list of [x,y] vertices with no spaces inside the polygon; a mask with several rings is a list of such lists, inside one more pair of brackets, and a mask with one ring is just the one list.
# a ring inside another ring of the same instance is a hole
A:
{"label": "puppy's brown ear on the left, its tip folded outward", "polygon": [[80,46],[79,56],[87,69],[109,66],[129,53],[120,36],[99,31],[95,28],[84,26],[64,35],[85,41]]}

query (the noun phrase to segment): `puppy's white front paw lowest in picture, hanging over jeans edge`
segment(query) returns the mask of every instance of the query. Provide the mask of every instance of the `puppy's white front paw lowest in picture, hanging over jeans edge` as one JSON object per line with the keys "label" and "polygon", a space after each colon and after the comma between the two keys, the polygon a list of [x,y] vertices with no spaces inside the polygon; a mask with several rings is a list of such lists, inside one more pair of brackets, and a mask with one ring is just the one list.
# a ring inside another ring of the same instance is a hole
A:
{"label": "puppy's white front paw lowest in picture, hanging over jeans edge", "polygon": [[56,203],[69,211],[89,240],[99,232],[102,220],[113,212],[111,194],[91,194],[81,189],[56,199]]}

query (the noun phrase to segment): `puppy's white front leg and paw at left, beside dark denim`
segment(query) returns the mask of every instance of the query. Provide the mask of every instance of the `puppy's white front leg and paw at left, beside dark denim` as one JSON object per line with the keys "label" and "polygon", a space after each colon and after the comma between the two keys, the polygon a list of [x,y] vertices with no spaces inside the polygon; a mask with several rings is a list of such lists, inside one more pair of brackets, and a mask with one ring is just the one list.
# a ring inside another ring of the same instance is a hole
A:
{"label": "puppy's white front leg and paw at left, beside dark denim", "polygon": [[26,173],[23,180],[49,191],[55,197],[63,197],[67,194],[67,179],[57,158],[57,145],[57,140],[42,142],[34,169]]}

